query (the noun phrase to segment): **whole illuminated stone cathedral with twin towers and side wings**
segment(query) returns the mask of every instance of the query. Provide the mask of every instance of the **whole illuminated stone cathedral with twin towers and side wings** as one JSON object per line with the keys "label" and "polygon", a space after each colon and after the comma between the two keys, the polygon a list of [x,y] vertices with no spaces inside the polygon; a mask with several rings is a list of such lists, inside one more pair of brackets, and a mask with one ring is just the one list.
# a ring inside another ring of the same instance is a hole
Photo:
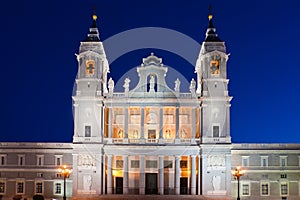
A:
{"label": "whole illuminated stone cathedral with twin towers and side wings", "polygon": [[[166,83],[156,54],[141,59],[138,83],[114,91],[97,17],[80,43],[73,95],[73,143],[0,143],[0,197],[63,197],[57,168],[67,164],[67,198],[115,194],[300,199],[300,144],[231,142],[225,43],[212,15],[188,92]],[[113,69],[111,69],[113,70]]]}

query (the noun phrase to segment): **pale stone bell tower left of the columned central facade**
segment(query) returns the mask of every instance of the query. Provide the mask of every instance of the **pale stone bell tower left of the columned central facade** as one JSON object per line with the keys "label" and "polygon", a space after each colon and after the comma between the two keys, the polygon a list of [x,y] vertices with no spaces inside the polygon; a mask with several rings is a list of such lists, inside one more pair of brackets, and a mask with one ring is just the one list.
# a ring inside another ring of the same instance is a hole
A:
{"label": "pale stone bell tower left of the columned central facade", "polygon": [[80,43],[73,94],[73,196],[100,195],[102,190],[103,99],[109,65],[99,38],[97,16]]}

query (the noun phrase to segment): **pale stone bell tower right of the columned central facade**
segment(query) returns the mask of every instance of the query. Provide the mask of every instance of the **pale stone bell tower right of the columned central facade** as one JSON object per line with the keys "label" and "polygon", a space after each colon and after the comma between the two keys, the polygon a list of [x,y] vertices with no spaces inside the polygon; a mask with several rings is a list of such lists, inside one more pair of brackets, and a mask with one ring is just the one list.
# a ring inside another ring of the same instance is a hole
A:
{"label": "pale stone bell tower right of the columned central facade", "polygon": [[202,195],[230,197],[231,137],[225,43],[208,15],[206,37],[195,67],[196,94],[201,100]]}

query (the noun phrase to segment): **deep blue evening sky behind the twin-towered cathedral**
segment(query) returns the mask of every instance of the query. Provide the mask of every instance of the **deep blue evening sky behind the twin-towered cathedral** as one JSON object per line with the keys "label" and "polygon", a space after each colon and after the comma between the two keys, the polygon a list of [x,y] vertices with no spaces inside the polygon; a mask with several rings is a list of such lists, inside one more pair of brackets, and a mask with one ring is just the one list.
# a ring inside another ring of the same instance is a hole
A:
{"label": "deep blue evening sky behind the twin-towered cathedral", "polygon": [[[94,4],[102,41],[152,26],[182,32],[201,43],[210,3],[217,33],[231,54],[233,142],[299,143],[298,0],[4,1],[0,141],[72,141],[74,54],[88,33]],[[180,57],[149,49],[120,57],[110,66],[110,76],[117,79],[151,51],[188,80],[196,77]]]}

